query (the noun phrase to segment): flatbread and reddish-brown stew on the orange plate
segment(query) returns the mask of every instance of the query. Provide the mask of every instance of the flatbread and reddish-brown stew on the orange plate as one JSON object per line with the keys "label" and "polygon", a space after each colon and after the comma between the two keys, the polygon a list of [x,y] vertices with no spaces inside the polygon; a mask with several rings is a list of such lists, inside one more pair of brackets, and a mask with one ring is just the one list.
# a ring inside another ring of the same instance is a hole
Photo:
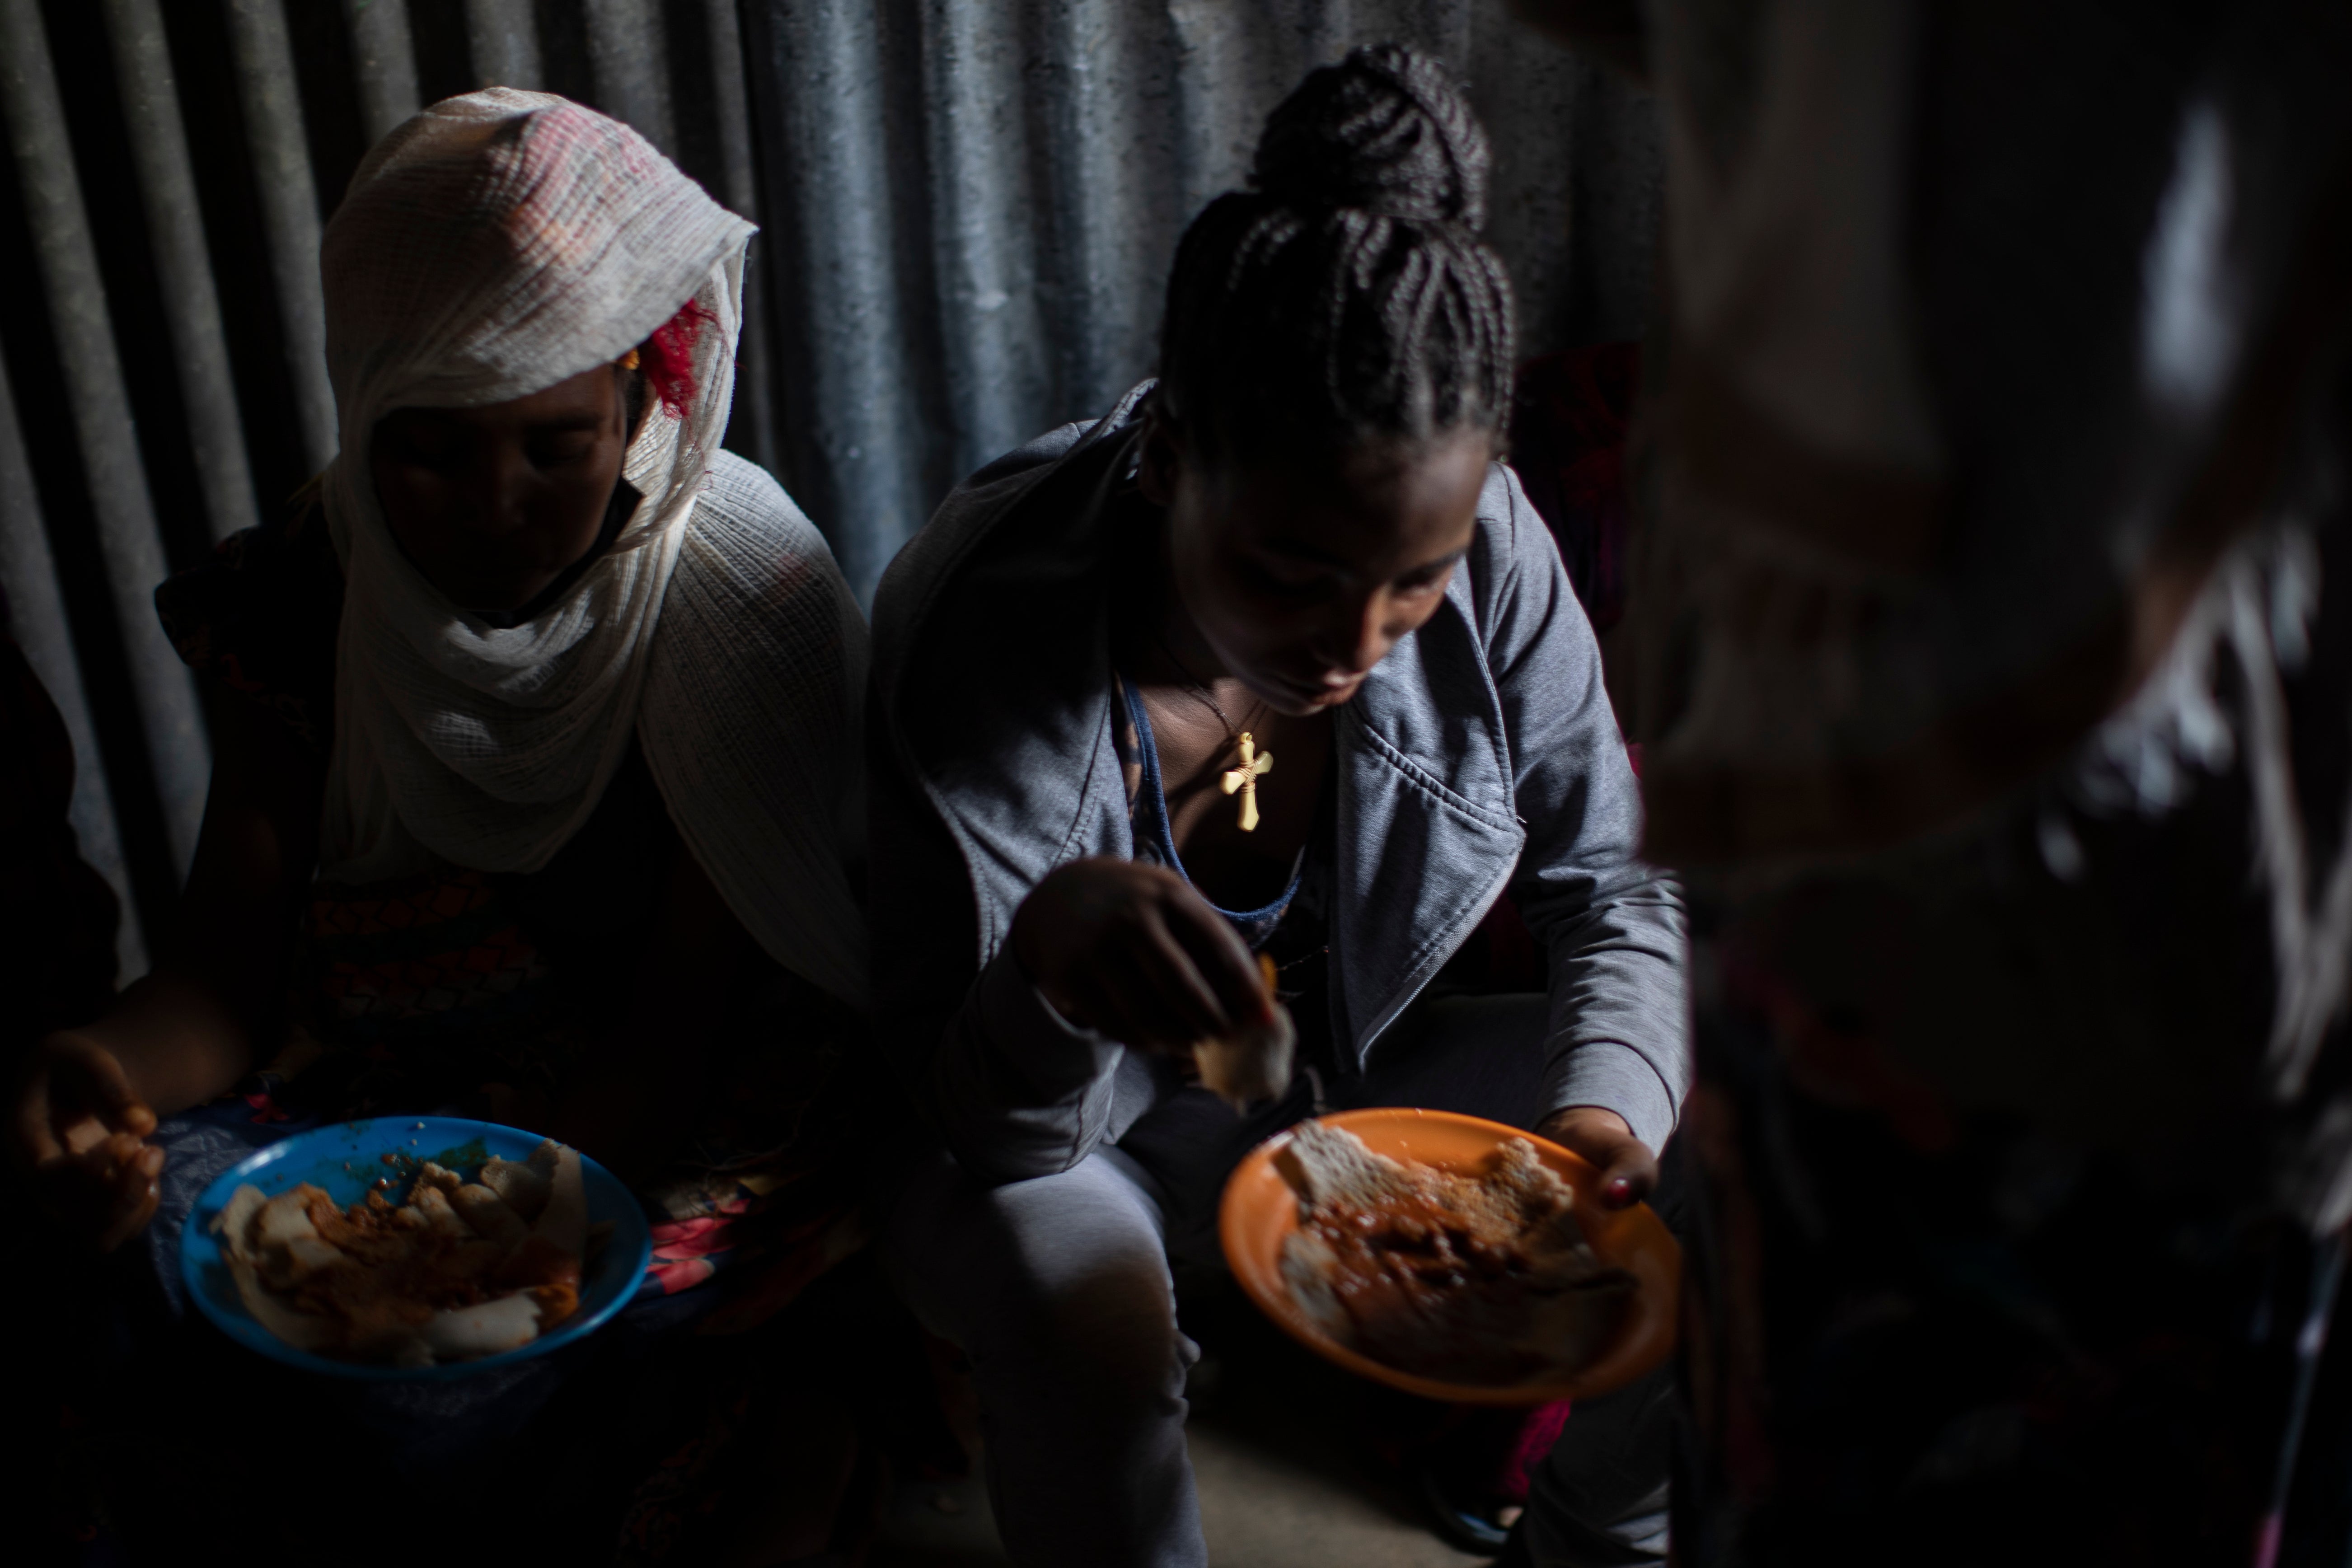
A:
{"label": "flatbread and reddish-brown stew on the orange plate", "polygon": [[1275,1168],[1298,1194],[1298,1229],[1282,1244],[1291,1298],[1327,1335],[1402,1373],[1515,1387],[1576,1371],[1632,1305],[1632,1274],[1592,1253],[1573,1190],[1524,1138],[1454,1175],[1308,1121]]}

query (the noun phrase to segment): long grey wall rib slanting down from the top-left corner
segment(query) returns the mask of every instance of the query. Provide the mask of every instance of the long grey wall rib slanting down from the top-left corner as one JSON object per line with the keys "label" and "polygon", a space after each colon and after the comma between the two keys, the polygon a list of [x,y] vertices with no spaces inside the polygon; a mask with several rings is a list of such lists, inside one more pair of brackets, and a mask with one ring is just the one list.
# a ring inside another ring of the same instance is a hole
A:
{"label": "long grey wall rib slanting down from the top-left corner", "polygon": [[[24,186],[33,252],[49,301],[49,331],[66,381],[66,404],[82,456],[82,477],[99,522],[99,550],[113,590],[132,696],[146,733],[148,764],[174,872],[186,875],[205,816],[212,745],[195,701],[195,679],[155,621],[155,583],[165,578],[155,503],[148,496],[132,428],[106,284],[89,242],[73,146],[49,68],[49,38],[35,0],[0,0],[0,115],[7,118]],[[118,785],[122,780],[115,780]]]}

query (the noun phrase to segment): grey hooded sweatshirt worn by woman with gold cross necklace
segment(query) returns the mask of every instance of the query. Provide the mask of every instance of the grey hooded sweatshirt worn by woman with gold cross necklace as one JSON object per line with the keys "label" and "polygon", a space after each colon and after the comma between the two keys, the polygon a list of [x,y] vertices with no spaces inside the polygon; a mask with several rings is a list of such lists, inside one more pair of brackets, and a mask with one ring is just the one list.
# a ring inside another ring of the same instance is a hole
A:
{"label": "grey hooded sweatshirt worn by woman with gold cross necklace", "polygon": [[[1157,1088],[1007,947],[1056,865],[1131,858],[1112,741],[1110,538],[1131,390],[981,468],[875,597],[873,893],[882,1044],[957,1161],[1002,1182],[1117,1143]],[[1642,804],[1599,649],[1543,520],[1489,468],[1444,607],[1336,712],[1334,1058],[1383,1032],[1510,889],[1550,959],[1545,1103],[1653,1150],[1689,1086],[1684,917],[1635,858]]]}

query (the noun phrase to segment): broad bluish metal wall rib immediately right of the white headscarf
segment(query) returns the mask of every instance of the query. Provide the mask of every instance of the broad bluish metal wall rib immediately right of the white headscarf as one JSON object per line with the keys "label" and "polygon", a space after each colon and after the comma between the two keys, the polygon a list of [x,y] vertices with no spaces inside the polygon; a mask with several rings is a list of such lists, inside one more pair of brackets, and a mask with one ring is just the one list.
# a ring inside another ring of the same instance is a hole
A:
{"label": "broad bluish metal wall rib immediately right of the white headscarf", "polygon": [[776,308],[802,355],[781,367],[802,463],[793,489],[823,524],[861,602],[929,512],[922,411],[908,376],[884,129],[884,73],[868,0],[764,12],[755,68],[790,82],[767,101],[762,212],[779,259]]}

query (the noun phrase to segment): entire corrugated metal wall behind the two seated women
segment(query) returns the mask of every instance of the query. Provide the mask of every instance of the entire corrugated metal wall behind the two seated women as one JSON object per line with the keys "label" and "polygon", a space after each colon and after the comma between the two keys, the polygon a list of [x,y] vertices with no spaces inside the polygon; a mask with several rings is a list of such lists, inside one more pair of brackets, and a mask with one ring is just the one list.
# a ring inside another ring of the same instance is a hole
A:
{"label": "entire corrugated metal wall behind the two seated women", "polygon": [[1651,108],[1503,0],[0,0],[0,585],[125,976],[209,771],[148,592],[334,454],[320,223],[419,103],[572,94],[764,226],[729,444],[870,592],[960,473],[1150,371],[1183,221],[1381,38],[1472,85],[1524,348],[1635,336]]}

